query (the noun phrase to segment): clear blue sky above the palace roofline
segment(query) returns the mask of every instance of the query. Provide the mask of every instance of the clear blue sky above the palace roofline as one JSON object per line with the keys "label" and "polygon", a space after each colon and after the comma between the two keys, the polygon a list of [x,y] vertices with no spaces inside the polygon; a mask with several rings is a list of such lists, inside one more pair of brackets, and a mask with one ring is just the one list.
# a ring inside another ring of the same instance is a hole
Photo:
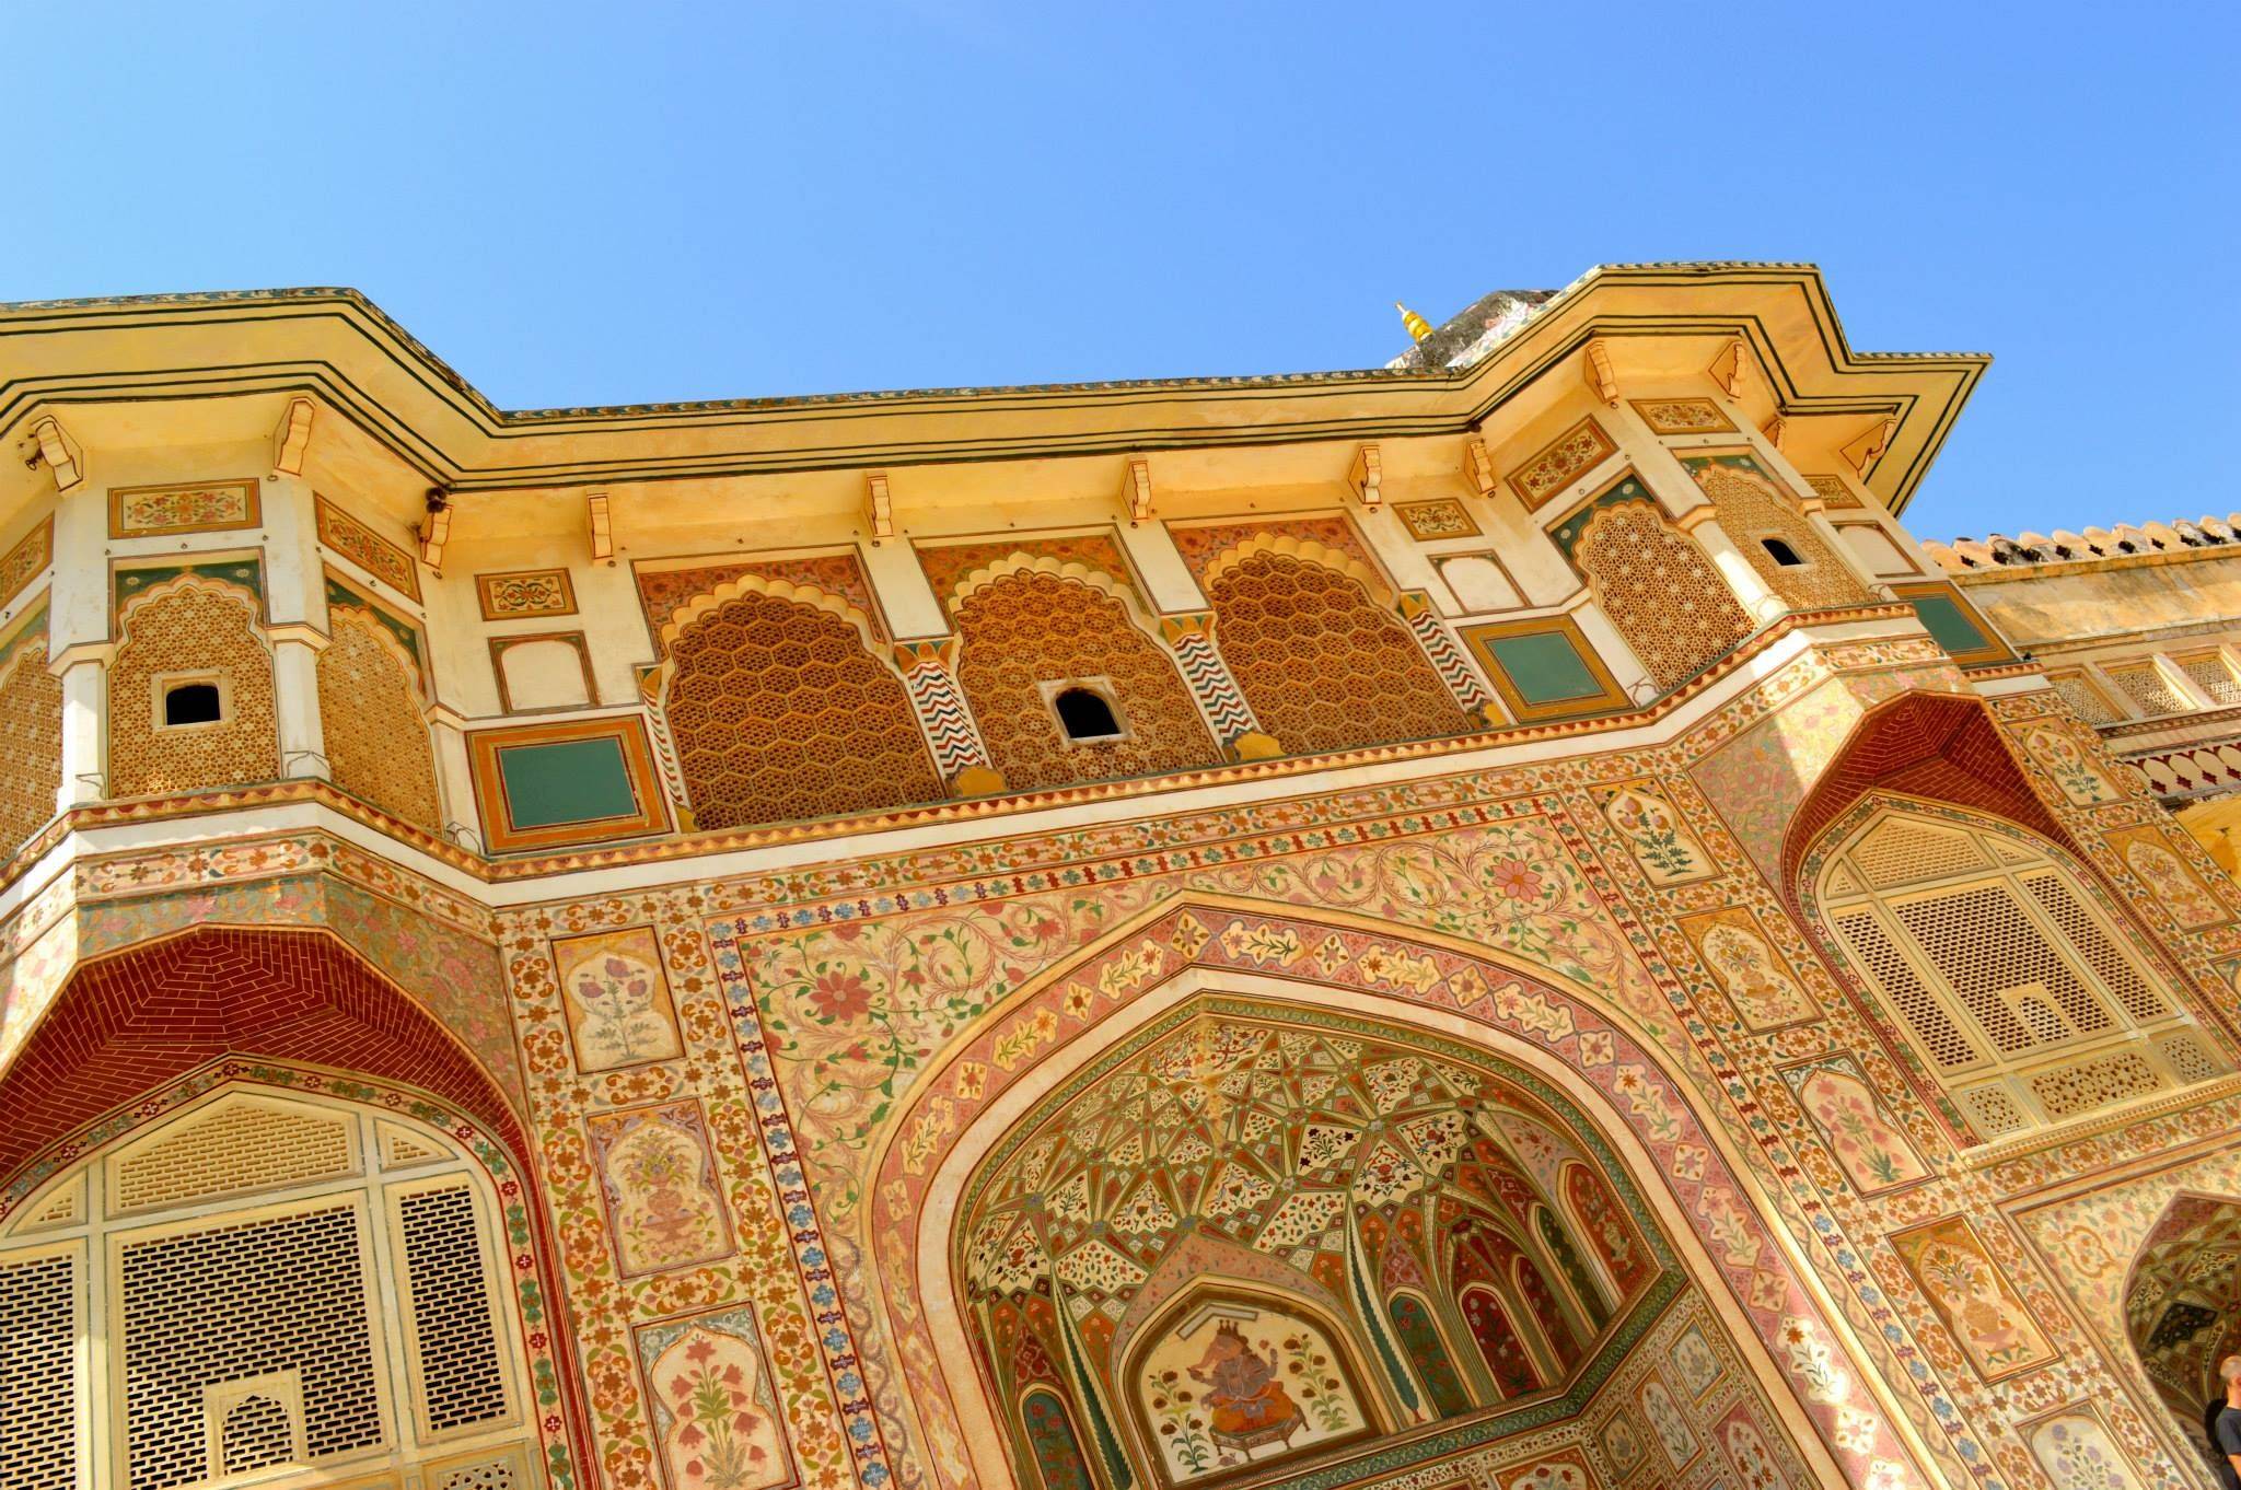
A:
{"label": "clear blue sky above the palace roofline", "polygon": [[0,298],[354,285],[504,408],[1295,372],[1596,262],[1997,354],[1925,536],[2241,506],[2234,4],[38,4]]}

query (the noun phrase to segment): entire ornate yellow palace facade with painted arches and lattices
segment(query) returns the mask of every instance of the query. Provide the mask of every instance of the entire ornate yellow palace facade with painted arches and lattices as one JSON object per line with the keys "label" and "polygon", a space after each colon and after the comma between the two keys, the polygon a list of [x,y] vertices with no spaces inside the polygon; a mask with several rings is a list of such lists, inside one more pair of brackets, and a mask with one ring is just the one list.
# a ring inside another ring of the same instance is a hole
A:
{"label": "entire ornate yellow palace facade with painted arches and lattices", "polygon": [[1416,329],[0,307],[0,1483],[2207,1483],[2234,531],[1916,542],[1806,267]]}

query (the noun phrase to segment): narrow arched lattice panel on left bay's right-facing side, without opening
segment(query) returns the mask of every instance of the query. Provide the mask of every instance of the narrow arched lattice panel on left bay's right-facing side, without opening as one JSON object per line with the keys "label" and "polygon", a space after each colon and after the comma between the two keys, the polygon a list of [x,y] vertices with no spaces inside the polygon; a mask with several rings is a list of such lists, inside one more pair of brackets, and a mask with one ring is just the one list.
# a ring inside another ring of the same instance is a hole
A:
{"label": "narrow arched lattice panel on left bay's right-facing side, without opening", "polygon": [[365,609],[329,607],[327,634],[318,654],[318,721],[334,784],[421,831],[439,831],[444,804],[419,665]]}

